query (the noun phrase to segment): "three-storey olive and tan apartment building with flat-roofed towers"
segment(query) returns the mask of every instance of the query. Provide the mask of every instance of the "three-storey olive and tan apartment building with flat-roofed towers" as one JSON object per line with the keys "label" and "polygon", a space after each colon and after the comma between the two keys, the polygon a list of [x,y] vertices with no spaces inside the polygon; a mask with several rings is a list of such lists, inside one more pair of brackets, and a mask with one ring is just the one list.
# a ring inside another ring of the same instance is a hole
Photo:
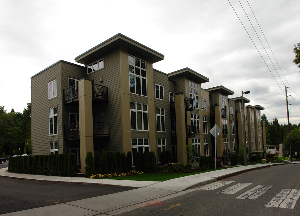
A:
{"label": "three-storey olive and tan apartment building with flat-roofed towers", "polygon": [[[228,98],[233,92],[202,89],[209,79],[190,68],[169,74],[153,69],[163,59],[117,34],[77,56],[78,64],[60,60],[32,76],[32,154],[75,153],[82,172],[86,153],[94,151],[131,151],[133,157],[154,151],[158,163],[162,151],[171,151],[185,164],[186,145],[195,157],[214,155],[214,124],[223,129],[217,157],[234,154],[241,123],[240,107]],[[261,109],[253,106],[255,134]]]}

